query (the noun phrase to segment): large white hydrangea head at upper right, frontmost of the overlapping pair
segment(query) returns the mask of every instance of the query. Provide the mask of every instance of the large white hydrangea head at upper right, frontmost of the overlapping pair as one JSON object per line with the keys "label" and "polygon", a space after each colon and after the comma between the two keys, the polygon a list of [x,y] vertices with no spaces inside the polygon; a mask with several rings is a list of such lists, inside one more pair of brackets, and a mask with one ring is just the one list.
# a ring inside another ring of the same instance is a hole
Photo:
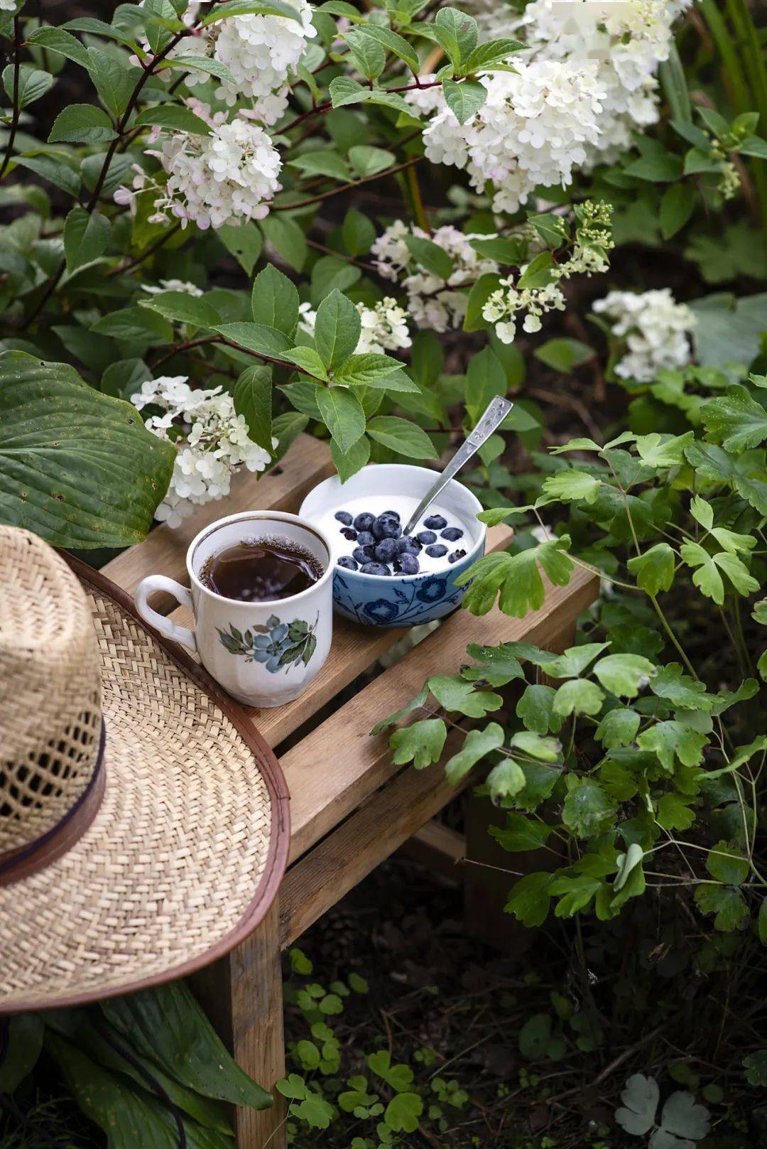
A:
{"label": "large white hydrangea head at upper right, frontmost of the overlapping pair", "polygon": [[495,211],[517,211],[537,184],[566,186],[599,139],[605,87],[596,61],[514,60],[514,72],[481,83],[485,105],[465,124],[446,108],[424,132],[434,163],[466,168],[481,191],[495,187]]}

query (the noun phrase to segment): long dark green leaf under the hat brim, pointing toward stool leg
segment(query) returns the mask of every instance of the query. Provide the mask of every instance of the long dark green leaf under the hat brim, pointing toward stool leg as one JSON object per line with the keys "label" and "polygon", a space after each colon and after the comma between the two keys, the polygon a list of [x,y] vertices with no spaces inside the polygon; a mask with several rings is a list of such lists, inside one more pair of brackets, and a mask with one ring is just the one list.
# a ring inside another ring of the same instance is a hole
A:
{"label": "long dark green leaf under the hat brim, pointing toward stool leg", "polygon": [[271,1094],[234,1062],[183,981],[115,997],[101,1010],[144,1057],[181,1085],[237,1105],[271,1105]]}

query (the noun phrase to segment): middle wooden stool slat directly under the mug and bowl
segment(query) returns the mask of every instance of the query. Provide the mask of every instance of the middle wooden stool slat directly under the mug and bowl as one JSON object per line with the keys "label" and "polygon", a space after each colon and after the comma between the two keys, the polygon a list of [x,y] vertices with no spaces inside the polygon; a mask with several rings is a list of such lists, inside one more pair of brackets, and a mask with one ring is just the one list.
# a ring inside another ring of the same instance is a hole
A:
{"label": "middle wooden stool slat directly under the mug and bowl", "polygon": [[[488,531],[487,553],[504,550],[511,545],[514,532],[505,524],[494,526]],[[454,618],[459,617],[460,611]],[[193,626],[192,611],[178,607],[170,617],[181,626]],[[442,627],[452,626],[450,619]],[[335,697],[339,691],[352,683],[355,678],[367,670],[377,658],[389,650],[406,634],[406,629],[388,630],[381,626],[361,626],[338,616],[333,619],[333,646],[327,662],[317,678],[304,693],[284,707],[266,707],[257,709],[245,707],[246,714],[257,726],[259,734],[270,746],[278,746],[288,734],[293,734],[308,718],[311,718],[320,707]],[[470,641],[470,640],[467,640]],[[396,707],[394,708],[396,709]]]}

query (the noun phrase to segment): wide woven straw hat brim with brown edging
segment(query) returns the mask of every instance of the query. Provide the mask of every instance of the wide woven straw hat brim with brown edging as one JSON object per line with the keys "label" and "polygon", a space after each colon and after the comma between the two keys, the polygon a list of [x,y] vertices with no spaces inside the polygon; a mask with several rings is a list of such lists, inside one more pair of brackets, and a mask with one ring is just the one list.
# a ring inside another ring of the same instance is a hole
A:
{"label": "wide woven straw hat brim with brown edging", "polygon": [[125,592],[63,557],[99,640],[106,786],[65,854],[0,886],[0,1013],[193,973],[256,928],[287,864],[287,786],[253,723]]}

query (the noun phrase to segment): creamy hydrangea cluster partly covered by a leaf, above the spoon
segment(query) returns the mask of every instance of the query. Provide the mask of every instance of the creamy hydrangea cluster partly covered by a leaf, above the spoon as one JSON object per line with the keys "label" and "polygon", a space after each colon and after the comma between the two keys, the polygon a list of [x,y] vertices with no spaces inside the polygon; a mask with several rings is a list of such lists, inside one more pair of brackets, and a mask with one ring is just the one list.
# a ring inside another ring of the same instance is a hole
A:
{"label": "creamy hydrangea cluster partly covered by a leaf, above the spoon", "polygon": [[[448,279],[440,279],[431,271],[411,270],[415,267],[406,236],[431,239],[452,260],[452,271]],[[385,279],[400,280],[408,292],[408,311],[419,327],[448,331],[459,327],[466,314],[467,295],[459,287],[474,283],[488,271],[497,271],[494,260],[479,255],[471,246],[472,239],[488,239],[487,236],[464,234],[451,224],[437,228],[427,236],[421,228],[395,221],[379,236],[371,248],[379,273]],[[403,272],[409,273],[402,278]]]}

